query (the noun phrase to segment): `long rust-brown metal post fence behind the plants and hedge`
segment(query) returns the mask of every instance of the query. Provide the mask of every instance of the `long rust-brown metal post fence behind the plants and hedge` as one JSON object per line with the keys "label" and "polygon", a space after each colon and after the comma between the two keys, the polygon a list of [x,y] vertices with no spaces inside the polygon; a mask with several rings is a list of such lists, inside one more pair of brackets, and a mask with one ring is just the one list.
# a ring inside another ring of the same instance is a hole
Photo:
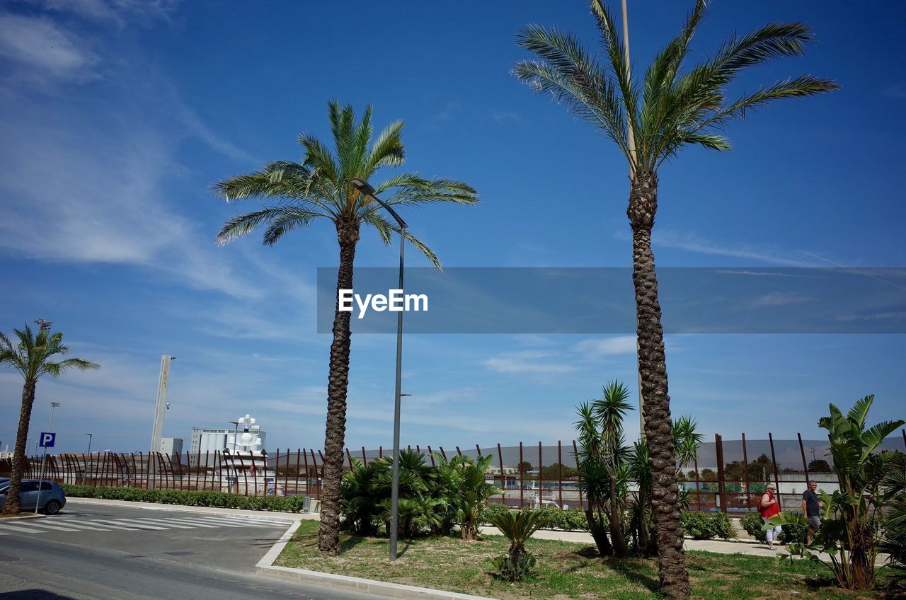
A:
{"label": "long rust-brown metal post fence behind the plants and hedge", "polygon": [[[906,430],[902,440],[884,440],[886,450],[906,450]],[[488,481],[502,493],[491,501],[512,508],[586,508],[578,474],[578,448],[575,441],[556,445],[541,442],[453,450],[416,445],[409,446],[436,465],[439,458],[455,455],[472,458],[491,457]],[[356,461],[369,464],[390,455],[390,449],[346,449],[346,469]],[[809,458],[811,460],[809,460]],[[826,466],[825,464],[826,463]],[[810,466],[811,465],[811,466]],[[827,440],[724,440],[715,434],[714,441],[699,447],[696,460],[684,466],[679,474],[680,487],[687,489],[690,508],[704,511],[741,513],[752,509],[756,498],[768,483],[775,483],[782,508],[801,507],[807,481],[814,479],[828,493],[837,489]],[[7,475],[11,460],[0,460],[0,475]],[[30,457],[25,477],[36,478],[41,472],[41,457]],[[292,496],[305,494],[321,498],[323,451],[299,448],[275,450],[261,456],[226,452],[198,452],[184,455],[161,453],[95,453],[47,456],[43,468],[46,479],[61,483],[94,487],[128,487],[142,489],[211,490],[253,495]]]}

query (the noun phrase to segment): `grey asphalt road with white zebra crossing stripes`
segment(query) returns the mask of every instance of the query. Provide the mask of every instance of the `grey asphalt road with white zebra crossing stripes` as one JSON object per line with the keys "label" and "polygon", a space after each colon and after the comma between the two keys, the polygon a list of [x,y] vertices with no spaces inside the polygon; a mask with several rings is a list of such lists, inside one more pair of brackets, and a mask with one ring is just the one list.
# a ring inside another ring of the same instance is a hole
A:
{"label": "grey asphalt road with white zebra crossing stripes", "polygon": [[70,503],[53,517],[0,522],[0,598],[377,600],[255,575],[287,527],[279,515]]}

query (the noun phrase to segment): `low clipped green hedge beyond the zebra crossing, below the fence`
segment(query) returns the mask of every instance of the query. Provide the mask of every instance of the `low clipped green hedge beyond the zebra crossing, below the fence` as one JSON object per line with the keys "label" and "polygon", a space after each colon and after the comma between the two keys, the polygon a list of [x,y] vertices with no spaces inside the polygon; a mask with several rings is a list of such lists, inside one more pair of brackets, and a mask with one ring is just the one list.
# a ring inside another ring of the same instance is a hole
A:
{"label": "low clipped green hedge beyond the zebra crossing, below the fence", "polygon": [[188,507],[244,508],[246,510],[272,510],[301,512],[305,497],[298,496],[243,496],[219,491],[183,491],[179,489],[94,488],[63,484],[67,498],[104,498],[134,502],[178,504]]}

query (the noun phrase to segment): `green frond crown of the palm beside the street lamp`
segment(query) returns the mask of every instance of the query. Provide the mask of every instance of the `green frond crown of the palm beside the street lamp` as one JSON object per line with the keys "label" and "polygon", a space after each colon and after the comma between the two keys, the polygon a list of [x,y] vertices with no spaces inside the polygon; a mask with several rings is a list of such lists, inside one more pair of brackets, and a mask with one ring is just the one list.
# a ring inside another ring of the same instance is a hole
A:
{"label": "green frond crown of the palm beside the street lamp", "polygon": [[[241,237],[266,224],[264,243],[271,246],[285,233],[309,226],[315,218],[328,218],[337,224],[357,227],[362,223],[377,229],[384,243],[390,234],[399,231],[381,214],[381,207],[370,197],[361,194],[352,179],[368,180],[382,167],[399,167],[405,160],[402,144],[402,121],[388,125],[371,142],[371,106],[361,121],[355,121],[351,105],[343,108],[336,100],[328,102],[333,133],[334,151],[310,133],[299,135],[304,149],[301,162],[277,160],[254,173],[237,175],[213,186],[215,193],[226,201],[242,198],[275,199],[278,204],[262,210],[231,218],[217,234],[217,242]],[[387,194],[381,199],[390,206],[410,206],[427,202],[457,202],[475,204],[475,189],[454,179],[424,179],[417,173],[399,173],[384,180],[375,194]],[[428,256],[435,266],[438,257],[406,232],[407,239]],[[357,236],[356,236],[357,241]]]}

